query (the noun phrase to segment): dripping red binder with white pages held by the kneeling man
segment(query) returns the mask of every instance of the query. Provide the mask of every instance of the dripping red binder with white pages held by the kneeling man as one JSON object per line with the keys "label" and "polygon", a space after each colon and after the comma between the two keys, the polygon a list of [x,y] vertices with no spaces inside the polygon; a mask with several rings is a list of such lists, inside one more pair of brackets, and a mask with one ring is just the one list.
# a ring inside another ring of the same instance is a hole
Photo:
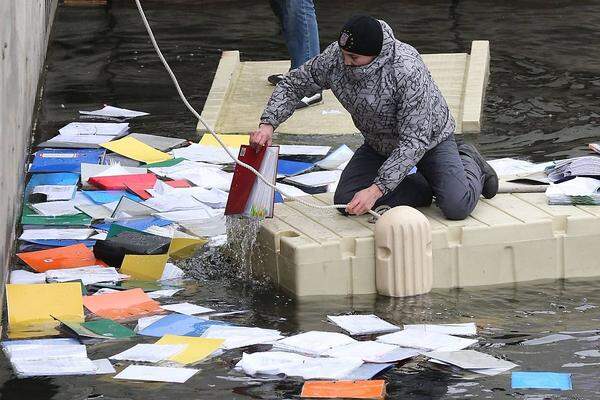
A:
{"label": "dripping red binder with white pages held by the kneeling man", "polygon": [[[240,147],[238,159],[251,165],[269,182],[275,184],[279,147],[263,147],[255,151],[250,146]],[[248,217],[273,217],[275,190],[247,168],[235,166],[233,181],[225,206],[225,215],[241,214]]]}

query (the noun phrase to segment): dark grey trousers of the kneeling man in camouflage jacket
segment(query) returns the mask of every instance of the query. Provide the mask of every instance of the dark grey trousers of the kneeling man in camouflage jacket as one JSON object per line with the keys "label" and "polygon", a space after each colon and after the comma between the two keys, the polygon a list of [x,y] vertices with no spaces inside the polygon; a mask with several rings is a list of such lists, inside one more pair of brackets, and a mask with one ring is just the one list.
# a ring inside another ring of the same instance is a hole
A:
{"label": "dark grey trousers of the kneeling man in camouflage jacket", "polygon": [[[359,147],[342,172],[334,195],[335,204],[347,204],[356,192],[371,186],[385,160],[385,156],[366,143]],[[417,173],[404,178],[374,207],[382,204],[427,207],[435,196],[436,204],[446,218],[461,220],[467,218],[477,205],[483,182],[481,168],[475,160],[459,155],[452,135],[426,152],[417,163]]]}

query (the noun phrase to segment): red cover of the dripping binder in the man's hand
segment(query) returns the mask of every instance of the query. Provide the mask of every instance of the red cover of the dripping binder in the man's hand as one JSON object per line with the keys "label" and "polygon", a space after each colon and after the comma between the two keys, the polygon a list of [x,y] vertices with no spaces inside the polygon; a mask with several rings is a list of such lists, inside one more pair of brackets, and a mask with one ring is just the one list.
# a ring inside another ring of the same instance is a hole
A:
{"label": "red cover of the dripping binder in the man's hand", "polygon": [[[266,150],[266,147],[261,147],[256,151],[253,147],[242,145],[238,159],[258,171]],[[238,164],[235,165],[233,180],[231,181],[231,188],[229,188],[229,196],[227,197],[227,205],[225,206],[225,215],[244,213],[248,197],[255,182],[256,175],[252,171]]]}

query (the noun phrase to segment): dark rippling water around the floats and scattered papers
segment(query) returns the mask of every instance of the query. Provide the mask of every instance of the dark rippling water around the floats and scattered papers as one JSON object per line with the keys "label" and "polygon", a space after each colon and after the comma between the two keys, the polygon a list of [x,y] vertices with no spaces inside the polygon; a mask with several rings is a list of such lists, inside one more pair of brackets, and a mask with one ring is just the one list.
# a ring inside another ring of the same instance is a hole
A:
{"label": "dark rippling water around the floats and scattered papers", "polygon": [[[221,50],[239,49],[248,60],[282,59],[285,46],[267,1],[143,2],[157,39],[197,109],[202,104]],[[586,152],[597,140],[600,121],[599,1],[357,1],[317,2],[322,47],[334,40],[351,14],[385,19],[401,40],[422,52],[465,52],[475,39],[491,41],[491,76],[484,127],[473,137],[489,157],[526,156],[544,161]],[[150,112],[133,121],[135,131],[195,138],[196,121],[177,98],[156,58],[131,1],[106,8],[60,7],[48,53],[48,73],[35,141],[56,134],[77,118],[77,110],[102,103]],[[288,138],[286,138],[288,139]],[[289,138],[295,140],[295,138]],[[359,138],[310,138],[339,143]],[[439,370],[424,361],[389,371],[389,398],[438,399],[507,397],[589,399],[600,393],[597,367],[576,351],[598,348],[598,281],[553,282],[515,287],[436,291],[411,299],[377,296],[324,297],[295,301],[273,290],[248,288],[215,269],[232,268],[218,257],[197,260],[182,301],[219,311],[249,310],[232,322],[276,328],[285,333],[333,330],[326,315],[374,312],[391,322],[465,322],[480,326],[480,346],[521,365],[522,370],[573,373],[570,392],[515,391],[509,377],[482,377]],[[199,265],[199,266],[198,266]],[[236,275],[235,273],[231,275]],[[519,342],[560,331],[597,332],[540,346]],[[139,338],[138,340],[146,340]],[[131,342],[89,347],[92,358],[115,354]],[[301,383],[232,380],[241,352],[200,365],[187,384],[119,382],[105,377],[18,380],[7,361],[0,363],[2,399],[284,399],[295,398]],[[224,379],[222,377],[228,377]]]}

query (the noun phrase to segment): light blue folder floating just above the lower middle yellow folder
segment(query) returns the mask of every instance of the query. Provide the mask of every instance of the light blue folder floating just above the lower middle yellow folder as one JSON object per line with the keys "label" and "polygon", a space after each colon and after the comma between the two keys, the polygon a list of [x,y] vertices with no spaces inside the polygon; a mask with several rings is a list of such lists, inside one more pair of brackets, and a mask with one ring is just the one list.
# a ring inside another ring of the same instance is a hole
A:
{"label": "light blue folder floating just above the lower middle yellow folder", "polygon": [[150,326],[142,329],[139,334],[162,337],[164,335],[201,336],[212,325],[231,325],[223,321],[214,321],[185,314],[169,314]]}

